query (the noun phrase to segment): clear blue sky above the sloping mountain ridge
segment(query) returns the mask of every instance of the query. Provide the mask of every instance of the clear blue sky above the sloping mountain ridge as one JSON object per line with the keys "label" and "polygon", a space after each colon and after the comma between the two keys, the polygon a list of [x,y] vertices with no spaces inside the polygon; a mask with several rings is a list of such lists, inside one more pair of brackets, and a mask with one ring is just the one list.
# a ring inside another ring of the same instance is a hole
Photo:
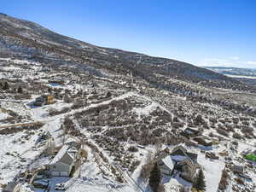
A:
{"label": "clear blue sky above the sloping mountain ridge", "polygon": [[0,0],[0,12],[90,44],[256,68],[255,0]]}

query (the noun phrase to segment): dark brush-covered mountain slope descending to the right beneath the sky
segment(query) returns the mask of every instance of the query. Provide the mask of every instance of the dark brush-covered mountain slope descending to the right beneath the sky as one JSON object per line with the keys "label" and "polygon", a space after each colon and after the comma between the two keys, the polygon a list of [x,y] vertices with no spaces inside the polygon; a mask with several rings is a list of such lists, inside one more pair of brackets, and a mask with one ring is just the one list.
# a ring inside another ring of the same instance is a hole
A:
{"label": "dark brush-covered mountain slope descending to the right beneath the sky", "polygon": [[25,58],[51,67],[70,66],[97,76],[132,73],[157,87],[165,87],[172,78],[210,87],[251,90],[236,79],[183,61],[98,47],[9,15],[0,15],[0,28],[0,57]]}

